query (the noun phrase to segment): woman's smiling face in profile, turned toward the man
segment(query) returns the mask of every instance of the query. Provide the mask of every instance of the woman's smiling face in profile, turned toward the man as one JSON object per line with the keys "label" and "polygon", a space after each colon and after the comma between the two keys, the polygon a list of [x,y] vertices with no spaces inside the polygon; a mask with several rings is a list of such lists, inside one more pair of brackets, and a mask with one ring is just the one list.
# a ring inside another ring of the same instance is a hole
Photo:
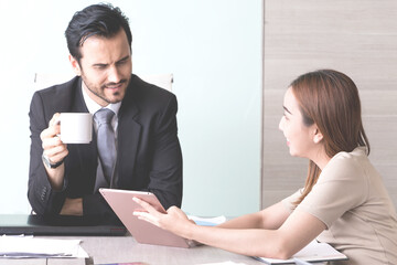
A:
{"label": "woman's smiling face in profile, turned toward the man", "polygon": [[305,126],[298,105],[298,100],[289,87],[283,99],[283,116],[281,117],[279,129],[287,138],[287,146],[293,157],[304,157],[311,159],[316,149],[314,144],[315,125]]}

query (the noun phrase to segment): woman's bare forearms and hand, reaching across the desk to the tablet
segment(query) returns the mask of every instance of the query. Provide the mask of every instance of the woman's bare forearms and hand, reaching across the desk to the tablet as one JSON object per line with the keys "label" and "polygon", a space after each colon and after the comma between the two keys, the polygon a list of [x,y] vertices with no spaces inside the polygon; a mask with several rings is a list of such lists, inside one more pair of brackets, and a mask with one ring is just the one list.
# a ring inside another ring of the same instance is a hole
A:
{"label": "woman's bare forearms and hand, reaching across the desk to the tablet", "polygon": [[[309,242],[318,236],[325,225],[313,215],[294,211],[278,229],[261,229],[257,225],[267,225],[258,222],[264,220],[256,214],[248,214],[224,224],[224,226],[200,226],[189,221],[187,216],[178,208],[172,206],[167,214],[155,211],[149,203],[135,199],[148,212],[135,212],[135,215],[146,220],[164,230],[185,239],[194,240],[206,245],[212,245],[226,251],[248,255],[266,256],[273,258],[289,258],[294,253],[303,248]],[[269,218],[269,220],[282,220],[286,212],[282,212],[280,204],[271,206],[275,212],[264,210],[259,212],[266,218],[270,215],[281,215]],[[269,208],[269,209],[271,209]],[[287,210],[285,210],[287,211]],[[254,227],[249,225],[254,224]],[[277,222],[275,222],[275,226]]]}

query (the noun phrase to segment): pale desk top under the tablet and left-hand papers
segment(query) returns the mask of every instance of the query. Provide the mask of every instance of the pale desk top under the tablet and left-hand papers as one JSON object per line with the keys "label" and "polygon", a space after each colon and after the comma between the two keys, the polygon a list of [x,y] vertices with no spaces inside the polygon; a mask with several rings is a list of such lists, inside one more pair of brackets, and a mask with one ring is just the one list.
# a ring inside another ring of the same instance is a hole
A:
{"label": "pale desk top under the tablet and left-hand papers", "polygon": [[92,265],[93,262],[94,264],[144,262],[149,265],[198,265],[222,262],[248,265],[264,264],[251,257],[211,246],[179,248],[146,245],[137,243],[131,236],[52,236],[49,239],[82,240],[82,246],[92,257],[92,261],[83,258],[0,259],[0,265]]}

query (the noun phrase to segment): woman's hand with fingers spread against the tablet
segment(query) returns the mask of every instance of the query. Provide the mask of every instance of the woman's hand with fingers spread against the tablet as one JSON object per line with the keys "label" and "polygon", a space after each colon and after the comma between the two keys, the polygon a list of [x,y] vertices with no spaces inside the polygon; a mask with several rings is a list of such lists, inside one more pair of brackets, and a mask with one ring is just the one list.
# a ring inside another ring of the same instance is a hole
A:
{"label": "woman's hand with fingers spread against the tablet", "polygon": [[133,212],[133,215],[138,216],[138,219],[144,220],[182,237],[190,239],[190,231],[195,224],[187,219],[186,214],[181,209],[171,206],[167,210],[167,213],[161,213],[151,204],[139,198],[135,197],[132,200],[146,210]]}

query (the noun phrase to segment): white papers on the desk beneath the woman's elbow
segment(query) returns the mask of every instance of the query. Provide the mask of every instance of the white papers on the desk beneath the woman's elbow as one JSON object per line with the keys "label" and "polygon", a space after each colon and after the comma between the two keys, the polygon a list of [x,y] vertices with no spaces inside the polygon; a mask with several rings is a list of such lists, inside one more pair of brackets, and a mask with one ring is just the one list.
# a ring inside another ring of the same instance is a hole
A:
{"label": "white papers on the desk beneath the woman's elbow", "polygon": [[294,254],[290,259],[277,259],[268,257],[256,257],[257,259],[267,264],[296,264],[296,259],[304,262],[329,262],[329,261],[345,261],[347,256],[333,248],[330,244],[319,243],[313,240],[300,252]]}

